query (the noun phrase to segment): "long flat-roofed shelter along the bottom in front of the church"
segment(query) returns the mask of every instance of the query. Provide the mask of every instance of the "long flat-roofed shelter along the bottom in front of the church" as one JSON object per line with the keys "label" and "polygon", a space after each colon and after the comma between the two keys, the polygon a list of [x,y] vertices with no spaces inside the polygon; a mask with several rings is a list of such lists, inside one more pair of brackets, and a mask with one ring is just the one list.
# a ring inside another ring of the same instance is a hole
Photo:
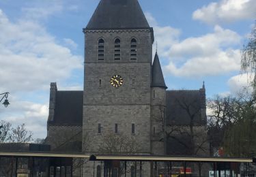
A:
{"label": "long flat-roofed shelter along the bottom in front of the church", "polygon": [[[74,161],[79,159],[80,174],[74,174]],[[0,152],[0,170],[5,168],[8,177],[71,177],[83,176],[84,163],[100,164],[91,167],[94,177],[142,177],[143,168],[150,170],[152,177],[205,176],[202,171],[206,164],[208,176],[238,176],[238,166],[253,164],[255,159],[218,157],[167,157],[150,155],[85,155],[53,152]],[[129,165],[129,164],[135,164]],[[150,164],[150,165],[145,165]],[[178,165],[177,165],[178,164]],[[197,172],[191,165],[197,165]],[[150,168],[148,168],[150,166]],[[132,168],[133,167],[133,168]],[[8,170],[8,169],[9,170]],[[122,169],[121,169],[122,168]],[[144,169],[145,170],[145,169]],[[4,174],[0,174],[4,176]],[[250,176],[250,169],[240,176]]]}

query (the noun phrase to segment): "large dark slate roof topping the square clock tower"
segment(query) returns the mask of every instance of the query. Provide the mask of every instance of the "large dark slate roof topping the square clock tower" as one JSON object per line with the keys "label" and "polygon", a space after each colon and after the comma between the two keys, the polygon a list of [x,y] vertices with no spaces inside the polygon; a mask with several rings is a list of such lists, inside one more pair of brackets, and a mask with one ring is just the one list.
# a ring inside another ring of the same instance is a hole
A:
{"label": "large dark slate roof topping the square clock tower", "polygon": [[100,0],[86,29],[150,28],[138,0]]}

